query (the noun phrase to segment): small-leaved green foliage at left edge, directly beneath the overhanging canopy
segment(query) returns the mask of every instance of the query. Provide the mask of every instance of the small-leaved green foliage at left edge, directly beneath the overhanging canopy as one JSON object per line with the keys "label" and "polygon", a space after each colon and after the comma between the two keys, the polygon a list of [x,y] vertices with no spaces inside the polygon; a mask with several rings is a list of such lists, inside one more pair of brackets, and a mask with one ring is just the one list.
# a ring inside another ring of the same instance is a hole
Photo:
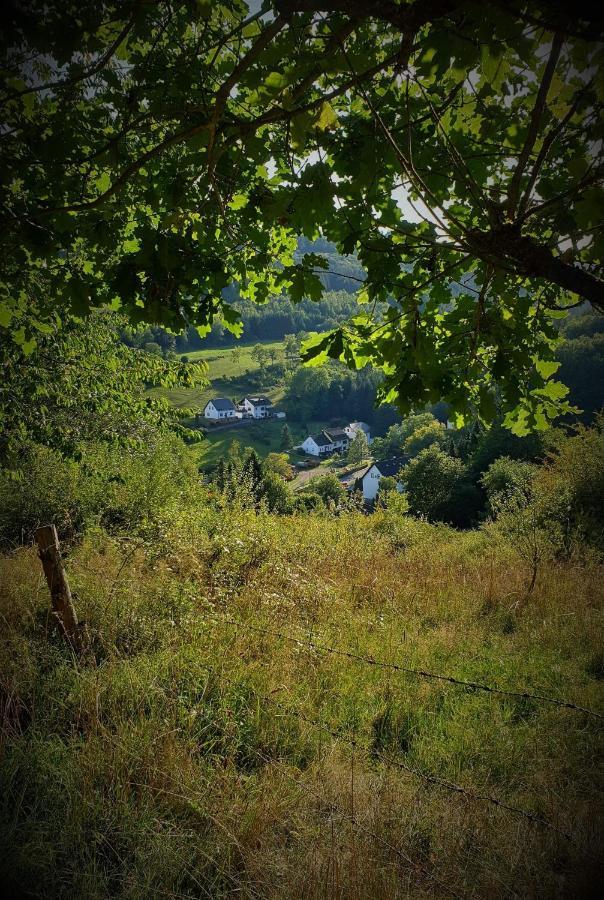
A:
{"label": "small-leaved green foliage at left edge, directly beneath the overhanging canopy", "polygon": [[205,366],[130,349],[119,340],[119,324],[99,313],[53,329],[28,357],[17,345],[5,347],[0,462],[18,468],[30,442],[73,454],[85,441],[140,441],[160,426],[187,434],[178,412],[145,388],[202,384]]}

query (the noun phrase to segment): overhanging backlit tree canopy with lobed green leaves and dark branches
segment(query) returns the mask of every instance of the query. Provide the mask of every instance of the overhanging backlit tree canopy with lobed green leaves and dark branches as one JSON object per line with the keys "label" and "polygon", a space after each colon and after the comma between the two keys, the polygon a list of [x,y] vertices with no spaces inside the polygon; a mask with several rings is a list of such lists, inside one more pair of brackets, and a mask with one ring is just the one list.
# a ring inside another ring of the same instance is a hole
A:
{"label": "overhanging backlit tree canopy with lobed green leaves and dark branches", "polygon": [[[591,4],[242,0],[9,7],[0,327],[109,305],[201,333],[225,299],[359,311],[307,360],[518,433],[568,406],[556,319],[604,310],[604,32]],[[356,277],[356,276],[350,276]]]}

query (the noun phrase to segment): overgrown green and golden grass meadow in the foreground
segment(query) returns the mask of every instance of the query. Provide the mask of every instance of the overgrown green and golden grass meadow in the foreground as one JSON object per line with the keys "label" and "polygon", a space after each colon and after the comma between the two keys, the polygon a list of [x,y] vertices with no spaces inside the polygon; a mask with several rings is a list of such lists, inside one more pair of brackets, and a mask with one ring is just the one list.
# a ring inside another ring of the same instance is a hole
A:
{"label": "overgrown green and golden grass meadow in the foreground", "polygon": [[544,568],[519,608],[486,531],[179,504],[67,564],[81,660],[34,551],[0,562],[13,896],[595,896],[601,720],[318,645],[602,711],[597,562]]}

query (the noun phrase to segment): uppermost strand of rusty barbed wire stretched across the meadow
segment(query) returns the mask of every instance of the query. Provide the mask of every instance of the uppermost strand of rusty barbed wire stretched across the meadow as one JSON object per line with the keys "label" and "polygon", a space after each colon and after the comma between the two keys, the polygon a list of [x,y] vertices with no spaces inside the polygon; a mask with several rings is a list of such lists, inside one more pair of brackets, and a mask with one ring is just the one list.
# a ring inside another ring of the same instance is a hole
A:
{"label": "uppermost strand of rusty barbed wire stretched across the meadow", "polygon": [[263,628],[259,625],[252,625],[249,622],[242,622],[241,620],[233,619],[229,616],[220,616],[215,621],[224,622],[227,625],[232,625],[239,628],[249,628],[250,631],[256,631],[269,637],[279,638],[289,643],[297,644],[302,648],[310,648],[316,650],[319,653],[342,656],[355,662],[373,666],[374,668],[390,669],[394,672],[401,672],[404,675],[412,675],[417,678],[423,678],[430,681],[442,681],[447,684],[470,688],[471,690],[482,691],[484,693],[493,694],[500,697],[513,697],[520,700],[535,700],[540,703],[550,703],[563,709],[571,709],[574,712],[584,713],[585,715],[592,716],[595,719],[604,719],[604,714],[596,712],[595,710],[589,709],[585,706],[579,706],[577,703],[572,703],[569,700],[561,700],[557,697],[548,697],[545,694],[535,694],[531,691],[525,690],[507,690],[505,688],[483,684],[478,681],[468,681],[463,678],[456,678],[453,675],[443,675],[437,672],[430,672],[427,669],[414,669],[409,666],[402,666],[399,663],[386,662],[385,660],[376,659],[373,656],[365,656],[360,653],[354,653],[352,650],[344,650],[341,647],[332,647],[326,644],[318,643],[314,638],[311,637],[307,639],[296,638],[291,634],[287,634],[286,632],[275,631],[270,628]]}

